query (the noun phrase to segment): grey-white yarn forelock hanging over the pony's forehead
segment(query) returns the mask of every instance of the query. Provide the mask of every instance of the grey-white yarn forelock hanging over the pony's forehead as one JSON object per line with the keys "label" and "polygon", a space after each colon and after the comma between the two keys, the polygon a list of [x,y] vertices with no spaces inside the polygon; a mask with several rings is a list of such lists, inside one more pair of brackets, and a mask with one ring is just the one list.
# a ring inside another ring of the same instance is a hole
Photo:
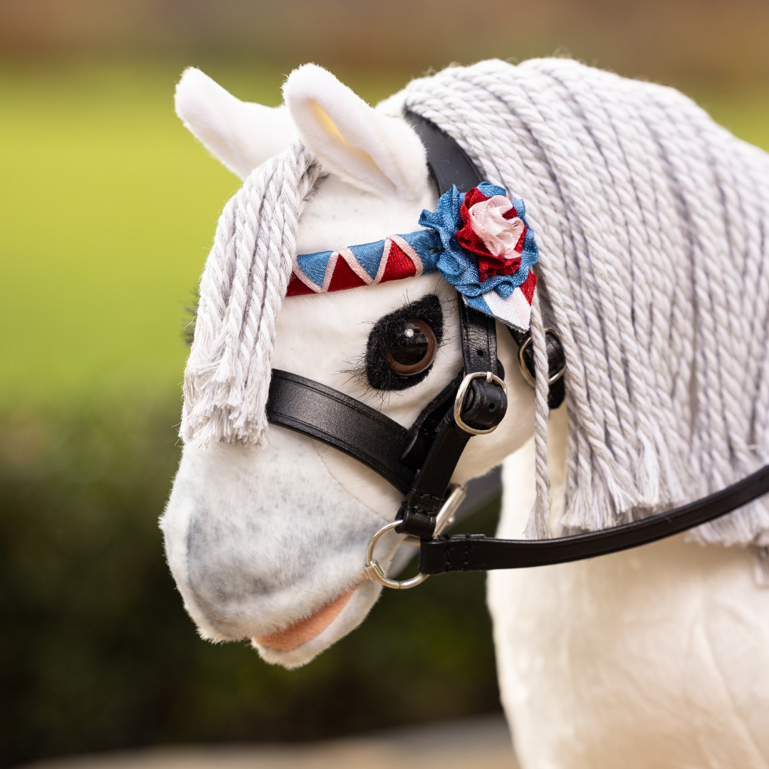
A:
{"label": "grey-white yarn forelock hanging over the pony's forehead", "polygon": [[318,174],[314,156],[297,142],[251,171],[219,217],[185,370],[185,441],[265,442],[275,321],[301,208]]}

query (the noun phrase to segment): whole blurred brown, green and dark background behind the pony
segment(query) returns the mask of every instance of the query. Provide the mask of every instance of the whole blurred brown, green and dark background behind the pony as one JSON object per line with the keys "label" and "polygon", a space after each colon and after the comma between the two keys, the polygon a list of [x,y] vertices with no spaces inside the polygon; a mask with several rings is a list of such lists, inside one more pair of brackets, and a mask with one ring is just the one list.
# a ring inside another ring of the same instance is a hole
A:
{"label": "whole blurred brown, green and dark background behind the pony", "polygon": [[759,0],[0,0],[0,767],[500,707],[482,575],[385,591],[293,672],[181,607],[156,523],[181,331],[238,188],[175,118],[183,68],[277,105],[313,61],[374,103],[451,62],[571,55],[769,148],[767,38]]}

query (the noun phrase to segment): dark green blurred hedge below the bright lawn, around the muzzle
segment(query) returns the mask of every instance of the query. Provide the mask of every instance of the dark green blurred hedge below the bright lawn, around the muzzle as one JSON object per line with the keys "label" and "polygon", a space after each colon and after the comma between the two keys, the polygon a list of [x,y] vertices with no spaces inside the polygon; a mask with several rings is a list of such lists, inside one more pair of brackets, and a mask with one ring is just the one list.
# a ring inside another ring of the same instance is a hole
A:
{"label": "dark green blurred hedge below the bright lawn, around the muzzle", "polygon": [[[191,741],[297,740],[497,709],[484,575],[384,591],[298,671],[201,641],[157,518],[179,404],[0,419],[0,765]],[[493,531],[496,511],[473,530]]]}

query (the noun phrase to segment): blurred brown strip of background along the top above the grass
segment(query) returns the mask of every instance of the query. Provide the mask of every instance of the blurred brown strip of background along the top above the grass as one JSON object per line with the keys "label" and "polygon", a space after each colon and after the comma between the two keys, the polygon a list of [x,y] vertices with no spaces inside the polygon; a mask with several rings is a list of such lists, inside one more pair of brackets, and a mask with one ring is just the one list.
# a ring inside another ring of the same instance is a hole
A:
{"label": "blurred brown strip of background along the top above the grass", "polygon": [[442,68],[567,50],[631,77],[769,74],[764,0],[0,0],[0,55],[235,55]]}

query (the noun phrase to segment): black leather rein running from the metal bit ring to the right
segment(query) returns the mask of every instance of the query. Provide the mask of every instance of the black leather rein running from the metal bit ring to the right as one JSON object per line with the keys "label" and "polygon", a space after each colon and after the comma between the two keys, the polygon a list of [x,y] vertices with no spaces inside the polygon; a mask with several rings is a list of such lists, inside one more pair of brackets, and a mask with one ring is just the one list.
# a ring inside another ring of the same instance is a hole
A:
{"label": "black leather rein running from the metal bit ring to the right", "polygon": [[481,534],[465,534],[423,540],[419,571],[444,574],[447,571],[518,569],[595,558],[680,534],[731,513],[767,493],[769,465],[722,491],[681,508],[588,534],[541,540],[494,539]]}

